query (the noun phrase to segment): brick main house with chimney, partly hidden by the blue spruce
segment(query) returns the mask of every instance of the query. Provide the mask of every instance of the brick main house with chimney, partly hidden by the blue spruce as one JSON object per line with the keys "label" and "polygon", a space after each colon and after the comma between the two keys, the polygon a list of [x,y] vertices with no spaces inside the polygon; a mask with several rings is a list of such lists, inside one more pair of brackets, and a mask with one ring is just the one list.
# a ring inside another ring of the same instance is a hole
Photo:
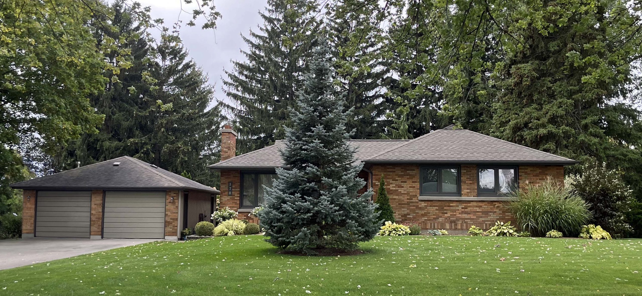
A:
{"label": "brick main house with chimney, partly hidden by the blue spruce", "polygon": [[[221,130],[221,161],[209,168],[221,174],[221,206],[248,217],[263,202],[283,163],[284,142],[236,156],[236,132]],[[548,178],[562,182],[564,166],[577,163],[547,152],[452,126],[414,140],[351,140],[360,177],[377,192],[383,175],[395,218],[423,229],[489,228],[513,220],[503,206],[507,193]],[[365,191],[367,188],[364,188]]]}

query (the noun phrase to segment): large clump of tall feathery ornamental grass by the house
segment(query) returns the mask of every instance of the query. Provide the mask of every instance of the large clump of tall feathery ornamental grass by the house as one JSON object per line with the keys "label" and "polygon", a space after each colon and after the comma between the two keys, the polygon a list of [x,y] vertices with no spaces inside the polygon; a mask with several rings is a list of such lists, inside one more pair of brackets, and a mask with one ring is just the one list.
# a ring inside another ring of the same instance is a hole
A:
{"label": "large clump of tall feathery ornamental grass by the house", "polygon": [[550,229],[578,233],[591,217],[589,206],[581,197],[551,179],[517,190],[507,207],[517,224],[535,236],[543,236]]}

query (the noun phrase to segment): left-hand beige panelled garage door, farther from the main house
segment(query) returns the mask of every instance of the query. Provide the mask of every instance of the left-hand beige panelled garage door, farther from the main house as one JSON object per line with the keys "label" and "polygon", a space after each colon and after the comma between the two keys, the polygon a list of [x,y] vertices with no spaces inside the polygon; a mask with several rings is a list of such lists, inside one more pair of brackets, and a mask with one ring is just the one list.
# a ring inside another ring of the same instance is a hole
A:
{"label": "left-hand beige panelled garage door, farther from the main house", "polygon": [[35,236],[88,238],[91,191],[39,191]]}

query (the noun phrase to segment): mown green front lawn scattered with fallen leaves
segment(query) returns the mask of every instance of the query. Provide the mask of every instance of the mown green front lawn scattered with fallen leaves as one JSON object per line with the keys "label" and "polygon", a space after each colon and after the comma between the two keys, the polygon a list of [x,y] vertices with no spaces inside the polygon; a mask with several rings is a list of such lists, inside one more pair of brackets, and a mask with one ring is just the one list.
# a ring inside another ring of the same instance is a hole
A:
{"label": "mown green front lawn scattered with fallen leaves", "polygon": [[146,243],[0,270],[0,296],[642,295],[642,240],[398,236],[362,248],[292,256],[256,235]]}

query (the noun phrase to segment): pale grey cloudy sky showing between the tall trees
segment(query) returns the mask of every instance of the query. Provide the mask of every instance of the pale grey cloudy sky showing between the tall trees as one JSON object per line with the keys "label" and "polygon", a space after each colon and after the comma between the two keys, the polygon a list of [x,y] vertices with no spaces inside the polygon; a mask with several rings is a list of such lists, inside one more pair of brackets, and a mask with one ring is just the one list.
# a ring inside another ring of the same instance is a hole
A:
{"label": "pale grey cloudy sky showing between the tall trees", "polygon": [[[183,23],[191,19],[191,15],[181,13],[181,1],[183,0],[137,0],[143,6],[152,7],[152,19],[162,18],[166,26],[171,26],[177,21],[180,15]],[[241,33],[248,36],[250,29],[257,30],[263,20],[259,11],[263,11],[266,0],[214,0],[216,10],[223,17],[216,22],[216,28],[201,29],[203,20],[196,21],[197,26],[183,26],[180,29],[180,36],[189,55],[209,75],[209,81],[214,85],[216,99],[225,100],[225,94],[221,91],[223,85],[221,76],[223,69],[232,69],[230,60],[244,60],[245,57],[239,52],[240,49],[247,49],[247,45],[241,39]],[[193,6],[182,4],[187,12],[193,10]]]}

